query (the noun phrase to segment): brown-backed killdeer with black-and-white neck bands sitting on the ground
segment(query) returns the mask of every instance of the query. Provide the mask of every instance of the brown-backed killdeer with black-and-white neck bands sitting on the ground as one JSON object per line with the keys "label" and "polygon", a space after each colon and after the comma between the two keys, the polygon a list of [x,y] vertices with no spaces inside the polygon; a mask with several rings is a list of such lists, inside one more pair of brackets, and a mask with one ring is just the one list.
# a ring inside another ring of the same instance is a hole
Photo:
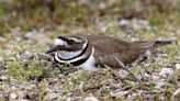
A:
{"label": "brown-backed killdeer with black-and-white neck bands sitting on the ground", "polygon": [[[170,44],[172,41],[125,42],[105,35],[67,35],[55,40],[55,54],[58,63],[71,64],[76,68],[95,70],[97,66],[121,67],[131,64],[155,46]],[[114,56],[116,58],[114,58]]]}

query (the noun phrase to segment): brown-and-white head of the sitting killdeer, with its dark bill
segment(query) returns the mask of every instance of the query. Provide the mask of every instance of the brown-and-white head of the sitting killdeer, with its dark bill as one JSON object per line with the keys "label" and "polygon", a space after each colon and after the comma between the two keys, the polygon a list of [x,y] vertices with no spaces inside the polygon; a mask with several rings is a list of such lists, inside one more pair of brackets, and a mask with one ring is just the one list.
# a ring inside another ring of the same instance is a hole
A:
{"label": "brown-and-white head of the sitting killdeer, with its dark bill", "polygon": [[68,59],[78,56],[88,46],[88,40],[82,36],[58,36],[55,46],[47,54],[58,53],[61,58]]}

